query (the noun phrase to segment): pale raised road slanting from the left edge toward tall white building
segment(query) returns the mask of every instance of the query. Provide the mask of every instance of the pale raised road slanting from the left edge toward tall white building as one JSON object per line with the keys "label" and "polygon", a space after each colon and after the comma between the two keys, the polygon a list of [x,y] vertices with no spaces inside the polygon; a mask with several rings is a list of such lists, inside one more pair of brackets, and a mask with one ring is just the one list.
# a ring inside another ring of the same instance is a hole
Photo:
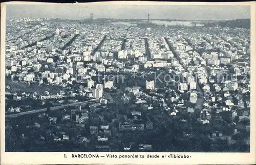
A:
{"label": "pale raised road slanting from the left edge toward tall white building", "polygon": [[[96,100],[98,100],[98,98],[87,100],[87,101],[81,101],[81,102],[75,102],[75,103],[60,105],[60,106],[53,106],[53,107],[51,107],[51,111],[52,110],[57,110],[57,109],[60,109],[60,108],[66,107],[66,106],[82,105],[82,104],[88,103],[90,101],[96,101]],[[28,114],[34,114],[34,113],[40,113],[40,112],[46,112],[46,111],[47,111],[47,108],[42,108],[42,109],[36,109],[36,110],[33,110],[33,111],[22,112],[22,113],[19,113],[19,114],[6,115],[5,117],[6,118],[16,118],[16,117],[22,116],[22,115],[28,115]]]}

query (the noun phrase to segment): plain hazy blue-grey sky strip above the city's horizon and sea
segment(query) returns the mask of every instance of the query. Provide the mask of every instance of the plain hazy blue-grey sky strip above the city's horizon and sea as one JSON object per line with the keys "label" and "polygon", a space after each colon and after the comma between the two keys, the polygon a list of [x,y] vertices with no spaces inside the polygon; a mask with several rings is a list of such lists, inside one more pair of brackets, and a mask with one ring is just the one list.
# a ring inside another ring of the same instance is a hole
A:
{"label": "plain hazy blue-grey sky strip above the city's horizon and sea", "polygon": [[227,20],[250,18],[250,6],[196,5],[7,5],[7,18],[151,18]]}

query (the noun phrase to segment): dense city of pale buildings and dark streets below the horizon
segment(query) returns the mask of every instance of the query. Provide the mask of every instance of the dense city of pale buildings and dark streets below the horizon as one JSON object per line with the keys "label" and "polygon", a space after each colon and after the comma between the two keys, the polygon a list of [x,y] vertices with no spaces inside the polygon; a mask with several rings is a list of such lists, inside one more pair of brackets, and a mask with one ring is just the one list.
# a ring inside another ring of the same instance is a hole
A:
{"label": "dense city of pale buildings and dark streets below the horizon", "polygon": [[83,16],[6,17],[6,152],[250,152],[250,17]]}

